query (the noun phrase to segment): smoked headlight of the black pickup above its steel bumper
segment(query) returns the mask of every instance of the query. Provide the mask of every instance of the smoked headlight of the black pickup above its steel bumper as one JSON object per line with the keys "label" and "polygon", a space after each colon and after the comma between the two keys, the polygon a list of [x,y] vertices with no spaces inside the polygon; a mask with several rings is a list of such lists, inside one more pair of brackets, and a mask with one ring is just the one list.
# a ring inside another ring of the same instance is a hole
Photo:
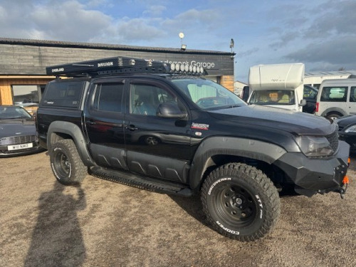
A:
{"label": "smoked headlight of the black pickup above its steel bumper", "polygon": [[325,137],[302,135],[298,138],[297,144],[307,157],[327,157],[334,153]]}

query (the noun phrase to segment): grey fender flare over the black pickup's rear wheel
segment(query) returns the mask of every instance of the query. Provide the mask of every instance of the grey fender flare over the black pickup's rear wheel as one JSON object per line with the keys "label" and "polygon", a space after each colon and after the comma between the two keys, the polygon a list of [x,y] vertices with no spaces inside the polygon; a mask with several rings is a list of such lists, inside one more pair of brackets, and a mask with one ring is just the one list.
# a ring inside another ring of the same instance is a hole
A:
{"label": "grey fender flare over the black pickup's rear wheel", "polygon": [[52,145],[58,140],[60,140],[57,137],[58,135],[53,135],[53,133],[56,132],[70,135],[70,137],[72,137],[75,146],[77,147],[80,158],[82,159],[85,166],[90,167],[96,165],[88,151],[88,147],[86,145],[85,137],[83,135],[82,130],[80,129],[80,127],[78,127],[78,125],[75,125],[73,122],[63,122],[61,120],[51,122],[51,125],[49,125],[47,132],[47,147],[49,152],[51,152]]}

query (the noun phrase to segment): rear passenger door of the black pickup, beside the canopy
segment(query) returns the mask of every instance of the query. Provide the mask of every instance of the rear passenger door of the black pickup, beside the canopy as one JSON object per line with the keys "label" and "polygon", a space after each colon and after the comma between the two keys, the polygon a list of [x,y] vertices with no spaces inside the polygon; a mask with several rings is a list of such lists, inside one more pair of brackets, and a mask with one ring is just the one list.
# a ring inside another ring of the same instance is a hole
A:
{"label": "rear passenger door of the black pickup, beside the canopy", "polygon": [[127,169],[123,123],[124,79],[98,80],[90,88],[84,123],[95,162],[103,167]]}

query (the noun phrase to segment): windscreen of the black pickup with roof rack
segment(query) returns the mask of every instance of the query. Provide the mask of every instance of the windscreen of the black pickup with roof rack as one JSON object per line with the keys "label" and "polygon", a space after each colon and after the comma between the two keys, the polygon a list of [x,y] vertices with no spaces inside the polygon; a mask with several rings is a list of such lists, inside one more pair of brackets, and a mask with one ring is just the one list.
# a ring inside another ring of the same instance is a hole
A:
{"label": "windscreen of the black pickup with roof rack", "polygon": [[246,105],[237,95],[211,80],[173,79],[172,82],[202,110],[219,110]]}

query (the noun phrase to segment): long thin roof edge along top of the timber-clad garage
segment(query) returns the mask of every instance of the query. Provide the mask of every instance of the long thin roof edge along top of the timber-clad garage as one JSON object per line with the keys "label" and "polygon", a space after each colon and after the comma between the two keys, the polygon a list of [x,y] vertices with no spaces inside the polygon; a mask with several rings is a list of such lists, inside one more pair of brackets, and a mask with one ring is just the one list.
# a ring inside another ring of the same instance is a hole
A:
{"label": "long thin roof edge along top of the timber-clad garage", "polygon": [[108,44],[108,43],[81,43],[81,42],[31,40],[31,39],[18,39],[18,38],[0,38],[0,44],[28,45],[28,46],[57,46],[57,47],[70,47],[70,48],[91,48],[91,49],[108,49],[108,50],[124,50],[124,51],[235,55],[235,53],[222,52],[222,51],[206,51],[206,50],[193,50],[193,49],[187,49],[186,51],[182,51],[180,48],[125,46],[125,45],[116,45],[116,44]]}

